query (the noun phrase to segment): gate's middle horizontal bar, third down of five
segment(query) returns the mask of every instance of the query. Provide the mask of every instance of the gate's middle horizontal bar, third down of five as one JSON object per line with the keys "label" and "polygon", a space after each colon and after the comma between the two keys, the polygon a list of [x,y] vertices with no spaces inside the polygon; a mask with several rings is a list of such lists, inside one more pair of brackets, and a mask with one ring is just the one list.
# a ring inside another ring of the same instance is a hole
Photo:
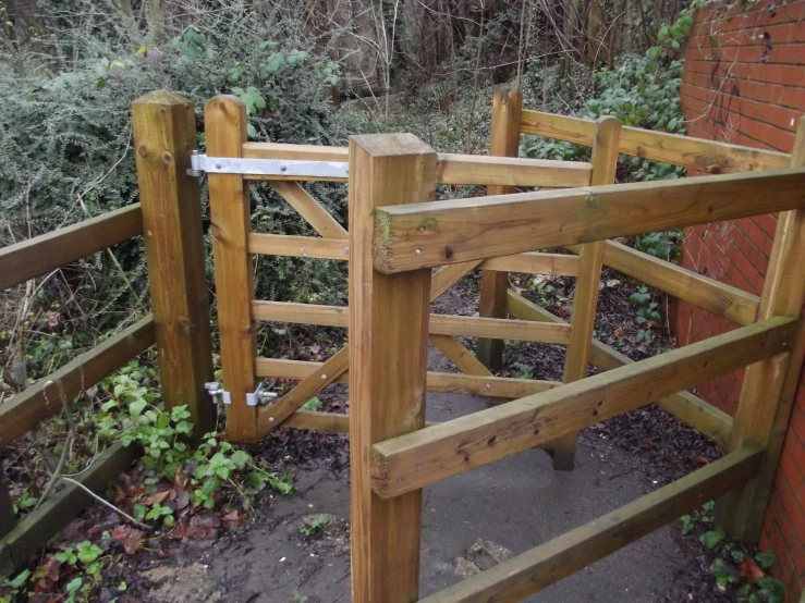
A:
{"label": "gate's middle horizontal bar, third down of five", "polygon": [[[271,322],[346,328],[350,321],[350,310],[345,306],[252,302],[252,318]],[[430,315],[429,332],[435,335],[490,337],[563,345],[570,342],[569,324],[550,324],[505,318]]]}

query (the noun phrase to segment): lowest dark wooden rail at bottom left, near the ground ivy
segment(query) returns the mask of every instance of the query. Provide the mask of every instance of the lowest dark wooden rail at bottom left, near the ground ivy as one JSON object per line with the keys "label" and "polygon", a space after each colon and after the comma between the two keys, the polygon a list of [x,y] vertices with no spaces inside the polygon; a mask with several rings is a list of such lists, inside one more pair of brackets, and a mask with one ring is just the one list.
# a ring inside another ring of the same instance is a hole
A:
{"label": "lowest dark wooden rail at bottom left, near the ground ivy", "polygon": [[[117,442],[75,479],[96,494],[102,494],[109,482],[129,469],[138,455],[137,446],[125,447]],[[17,522],[12,531],[0,539],[0,577],[24,567],[32,555],[93,502],[94,499],[81,488],[68,483],[38,509]]]}

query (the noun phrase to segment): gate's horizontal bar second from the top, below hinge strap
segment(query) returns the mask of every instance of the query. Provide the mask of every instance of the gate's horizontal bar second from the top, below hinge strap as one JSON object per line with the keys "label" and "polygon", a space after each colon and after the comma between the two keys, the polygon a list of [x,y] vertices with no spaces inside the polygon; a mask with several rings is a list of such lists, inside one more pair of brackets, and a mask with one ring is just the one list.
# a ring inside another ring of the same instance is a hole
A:
{"label": "gate's horizontal bar second from the top, below hinge strap", "polygon": [[[347,238],[251,233],[248,235],[248,253],[349,261],[350,241]],[[564,254],[528,251],[513,256],[489,258],[484,260],[478,269],[575,276],[578,274],[578,258]]]}

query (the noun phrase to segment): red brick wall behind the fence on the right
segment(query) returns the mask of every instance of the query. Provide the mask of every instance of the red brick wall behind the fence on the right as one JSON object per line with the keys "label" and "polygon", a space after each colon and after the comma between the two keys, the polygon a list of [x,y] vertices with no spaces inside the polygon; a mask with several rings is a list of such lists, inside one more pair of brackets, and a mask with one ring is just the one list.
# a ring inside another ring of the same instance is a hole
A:
{"label": "red brick wall behind the fence on the right", "polygon": [[[761,0],[747,10],[708,8],[696,15],[685,49],[682,103],[691,136],[791,152],[805,114],[805,1]],[[764,216],[688,229],[682,264],[759,294],[777,219]],[[803,275],[805,278],[805,275]],[[725,320],[680,304],[674,325],[681,344],[722,333]],[[733,413],[742,373],[705,383],[700,394]],[[777,557],[773,574],[786,601],[805,583],[805,377],[800,381],[761,547]]]}

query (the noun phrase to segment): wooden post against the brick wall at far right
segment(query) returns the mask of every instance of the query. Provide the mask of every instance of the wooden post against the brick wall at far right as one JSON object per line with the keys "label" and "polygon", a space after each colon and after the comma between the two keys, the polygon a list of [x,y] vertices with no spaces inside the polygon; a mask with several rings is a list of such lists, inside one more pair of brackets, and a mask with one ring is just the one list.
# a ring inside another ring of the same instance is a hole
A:
{"label": "wooden post against the brick wall at far right", "polygon": [[[800,119],[791,167],[805,165],[805,118]],[[757,320],[801,316],[805,298],[805,211],[780,213]],[[746,368],[728,450],[760,445],[766,454],[757,477],[719,501],[718,518],[730,537],[757,542],[780,462],[791,409],[796,396],[805,333],[790,354],[780,354]]]}

